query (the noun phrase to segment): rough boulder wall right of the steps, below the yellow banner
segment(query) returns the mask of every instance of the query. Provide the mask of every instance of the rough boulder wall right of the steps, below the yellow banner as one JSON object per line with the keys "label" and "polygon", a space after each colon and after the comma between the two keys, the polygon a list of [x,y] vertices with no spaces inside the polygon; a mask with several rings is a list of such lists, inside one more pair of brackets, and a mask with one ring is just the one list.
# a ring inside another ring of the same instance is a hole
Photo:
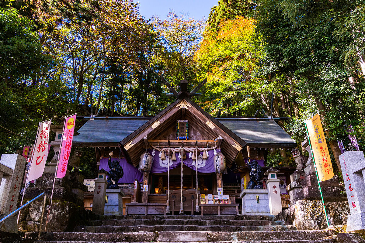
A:
{"label": "rough boulder wall right of the steps, below the yellow banner", "polygon": [[[347,201],[326,203],[328,222],[330,225],[347,224],[350,213]],[[285,225],[295,225],[297,230],[323,230],[327,228],[326,216],[322,201],[299,200],[274,217]]]}

